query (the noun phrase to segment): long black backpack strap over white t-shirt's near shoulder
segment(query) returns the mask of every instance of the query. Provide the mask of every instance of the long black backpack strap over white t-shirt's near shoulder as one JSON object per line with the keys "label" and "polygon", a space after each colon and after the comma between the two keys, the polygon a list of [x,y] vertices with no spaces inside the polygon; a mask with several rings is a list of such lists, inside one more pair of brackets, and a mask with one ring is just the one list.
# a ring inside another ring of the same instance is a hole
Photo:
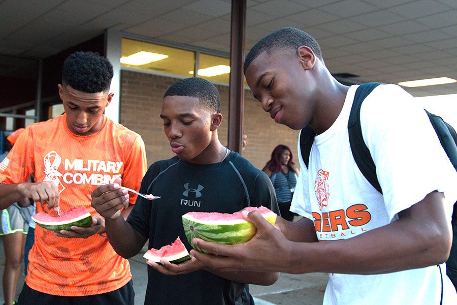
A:
{"label": "long black backpack strap over white t-shirt's near shoulder", "polygon": [[381,186],[379,185],[378,177],[376,176],[376,165],[371,158],[370,150],[365,144],[362,127],[360,125],[360,109],[365,98],[381,83],[373,82],[358,86],[355,90],[354,101],[352,103],[351,113],[347,128],[349,131],[349,143],[351,145],[352,156],[358,168],[370,182],[370,184],[382,194]]}

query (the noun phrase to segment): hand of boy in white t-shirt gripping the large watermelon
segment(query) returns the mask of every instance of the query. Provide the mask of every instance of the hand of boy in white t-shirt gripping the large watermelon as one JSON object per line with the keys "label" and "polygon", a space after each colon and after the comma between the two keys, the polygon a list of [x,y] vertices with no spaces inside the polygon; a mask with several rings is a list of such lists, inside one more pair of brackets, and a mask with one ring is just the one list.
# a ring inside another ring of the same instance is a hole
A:
{"label": "hand of boy in white t-shirt gripping the large watermelon", "polygon": [[278,258],[289,255],[291,241],[258,211],[243,214],[243,217],[257,228],[249,241],[236,245],[221,245],[193,238],[192,241],[197,247],[211,254],[191,250],[190,255],[220,271],[284,271],[287,267],[286,260]]}

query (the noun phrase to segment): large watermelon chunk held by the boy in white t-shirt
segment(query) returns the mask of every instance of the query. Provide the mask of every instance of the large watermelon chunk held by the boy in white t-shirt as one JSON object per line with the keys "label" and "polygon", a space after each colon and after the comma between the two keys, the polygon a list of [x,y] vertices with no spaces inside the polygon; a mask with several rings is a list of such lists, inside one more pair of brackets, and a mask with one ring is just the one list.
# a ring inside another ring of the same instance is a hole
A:
{"label": "large watermelon chunk held by the boy in white t-shirt", "polygon": [[234,214],[216,212],[188,212],[182,216],[182,224],[187,240],[193,249],[208,253],[195,246],[192,238],[235,245],[248,241],[255,235],[257,229],[253,224],[243,219],[242,211],[258,211],[272,225],[276,222],[276,214],[265,206],[248,206]]}

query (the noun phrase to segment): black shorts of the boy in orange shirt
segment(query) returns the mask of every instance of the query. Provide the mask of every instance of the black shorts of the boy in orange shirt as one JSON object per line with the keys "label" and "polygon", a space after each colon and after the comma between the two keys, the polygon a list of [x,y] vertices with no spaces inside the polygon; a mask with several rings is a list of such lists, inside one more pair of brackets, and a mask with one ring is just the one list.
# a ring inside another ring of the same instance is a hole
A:
{"label": "black shorts of the boy in orange shirt", "polygon": [[87,296],[60,296],[31,289],[24,283],[17,304],[19,305],[134,305],[135,291],[132,280],[121,288],[102,294]]}

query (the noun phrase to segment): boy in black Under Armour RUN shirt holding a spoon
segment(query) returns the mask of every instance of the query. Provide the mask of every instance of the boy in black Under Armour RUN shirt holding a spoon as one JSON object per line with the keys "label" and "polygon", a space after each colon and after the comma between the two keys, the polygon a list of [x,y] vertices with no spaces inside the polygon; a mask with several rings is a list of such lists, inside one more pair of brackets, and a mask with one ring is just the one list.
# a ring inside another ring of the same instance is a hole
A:
{"label": "boy in black Under Armour RUN shirt holding a spoon", "polygon": [[[127,196],[118,184],[92,193],[92,206],[106,219],[111,245],[125,258],[159,249],[181,236],[188,250],[181,216],[189,211],[233,213],[246,206],[266,206],[279,214],[268,176],[224,147],[217,129],[222,122],[220,97],[202,78],[187,78],[166,92],[160,117],[177,156],[155,162],[143,178],[141,192],[127,221],[120,208]],[[260,254],[259,254],[260,255]],[[247,284],[271,285],[279,273],[219,272],[192,258],[179,265],[148,261],[145,304],[253,304]]]}

